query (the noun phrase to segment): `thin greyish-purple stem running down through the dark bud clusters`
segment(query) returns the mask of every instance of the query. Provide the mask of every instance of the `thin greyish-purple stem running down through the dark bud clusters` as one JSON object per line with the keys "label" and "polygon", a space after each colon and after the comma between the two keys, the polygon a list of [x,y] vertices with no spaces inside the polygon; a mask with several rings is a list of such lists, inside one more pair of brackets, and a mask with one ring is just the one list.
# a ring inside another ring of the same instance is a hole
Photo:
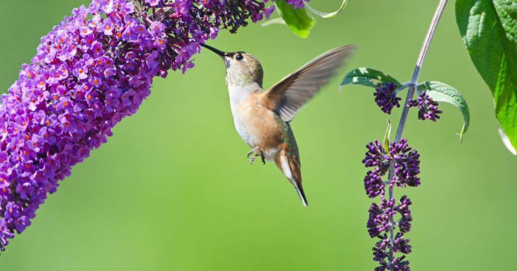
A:
{"label": "thin greyish-purple stem running down through the dark bud clusters", "polygon": [[[431,24],[429,25],[429,29],[427,30],[427,34],[425,35],[425,39],[422,43],[422,48],[420,49],[420,54],[418,55],[417,63],[415,65],[415,70],[413,71],[413,76],[411,77],[409,89],[407,91],[407,97],[406,101],[404,103],[404,108],[402,108],[402,116],[400,116],[399,126],[397,127],[397,134],[395,135],[395,142],[399,142],[402,138],[402,132],[404,131],[404,126],[406,124],[407,114],[409,111],[409,107],[407,107],[409,101],[413,99],[413,94],[415,93],[415,87],[418,82],[418,76],[420,75],[420,70],[422,68],[423,60],[425,59],[425,56],[427,55],[427,52],[429,51],[429,45],[431,44],[431,40],[434,36],[434,31],[436,30],[436,27],[438,26],[438,22],[440,20],[440,17],[442,17],[442,13],[444,12],[445,5],[447,4],[448,0],[440,0],[438,3],[438,7],[436,7],[436,11],[434,12],[433,19],[431,21]],[[391,181],[393,179],[393,176],[395,174],[395,165],[393,161],[390,164],[389,168],[389,180]],[[393,199],[393,184],[390,184],[388,186],[388,196],[389,200],[391,201]],[[389,246],[389,255],[388,255],[388,268],[389,270],[393,270],[393,266],[391,266],[391,262],[393,261],[393,241],[394,241],[394,235],[393,235],[393,225],[395,225],[395,222],[393,220],[393,215],[389,216],[390,224],[392,225],[389,230],[389,238],[390,238],[390,246]]]}

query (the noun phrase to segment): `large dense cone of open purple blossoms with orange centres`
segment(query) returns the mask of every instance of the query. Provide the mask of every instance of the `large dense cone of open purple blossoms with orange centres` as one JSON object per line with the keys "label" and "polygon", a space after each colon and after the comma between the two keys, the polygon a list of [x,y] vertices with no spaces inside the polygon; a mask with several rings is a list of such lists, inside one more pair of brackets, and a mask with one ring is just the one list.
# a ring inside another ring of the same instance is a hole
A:
{"label": "large dense cone of open purple blossoms with orange centres", "polygon": [[185,72],[200,43],[272,8],[257,0],[93,0],[41,38],[0,98],[0,248],[136,112],[153,77]]}

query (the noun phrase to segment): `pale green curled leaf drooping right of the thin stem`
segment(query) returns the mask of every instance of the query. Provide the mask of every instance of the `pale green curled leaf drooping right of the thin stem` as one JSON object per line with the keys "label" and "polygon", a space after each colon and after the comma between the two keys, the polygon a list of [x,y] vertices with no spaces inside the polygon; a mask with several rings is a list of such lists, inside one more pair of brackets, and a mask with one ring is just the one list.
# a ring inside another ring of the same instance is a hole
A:
{"label": "pale green curled leaf drooping right of the thin stem", "polygon": [[419,91],[425,90],[425,93],[428,94],[429,97],[433,98],[434,101],[450,103],[461,111],[465,122],[460,133],[460,140],[462,140],[470,123],[470,113],[468,111],[467,102],[460,91],[447,84],[436,81],[423,82],[417,86],[417,89]]}

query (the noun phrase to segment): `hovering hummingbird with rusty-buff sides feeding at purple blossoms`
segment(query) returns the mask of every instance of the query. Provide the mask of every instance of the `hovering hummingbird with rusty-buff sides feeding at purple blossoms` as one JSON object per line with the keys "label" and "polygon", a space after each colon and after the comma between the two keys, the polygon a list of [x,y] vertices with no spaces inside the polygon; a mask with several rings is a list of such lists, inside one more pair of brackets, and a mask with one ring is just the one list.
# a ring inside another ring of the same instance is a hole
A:
{"label": "hovering hummingbird with rusty-buff sides feeding at purple blossoms", "polygon": [[[354,45],[332,49],[285,76],[267,90],[262,87],[264,71],[256,57],[245,52],[222,52],[201,43],[219,55],[226,67],[226,86],[230,94],[235,129],[251,150],[247,157],[275,162],[308,206],[301,185],[300,155],[291,129],[298,110],[329,82]],[[250,157],[251,156],[251,157]]]}

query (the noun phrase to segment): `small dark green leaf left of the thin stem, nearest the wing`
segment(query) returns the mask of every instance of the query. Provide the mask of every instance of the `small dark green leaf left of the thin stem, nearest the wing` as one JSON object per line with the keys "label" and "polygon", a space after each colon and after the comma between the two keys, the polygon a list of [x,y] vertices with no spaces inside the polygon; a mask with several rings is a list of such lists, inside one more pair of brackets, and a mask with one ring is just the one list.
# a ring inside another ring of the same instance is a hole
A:
{"label": "small dark green leaf left of the thin stem, nearest the wing", "polygon": [[370,68],[357,68],[347,73],[343,82],[341,82],[341,86],[353,84],[375,88],[377,82],[394,82],[397,87],[402,86],[397,79],[390,75]]}

